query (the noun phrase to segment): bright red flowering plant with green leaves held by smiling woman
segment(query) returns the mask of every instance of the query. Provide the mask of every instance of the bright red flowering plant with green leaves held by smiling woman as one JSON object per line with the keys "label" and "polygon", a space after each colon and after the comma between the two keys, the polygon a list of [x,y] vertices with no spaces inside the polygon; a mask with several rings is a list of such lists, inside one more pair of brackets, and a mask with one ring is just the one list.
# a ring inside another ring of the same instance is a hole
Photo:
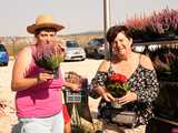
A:
{"label": "bright red flowering plant with green leaves held by smiling woman", "polygon": [[123,96],[127,91],[131,89],[130,84],[128,83],[128,79],[120,74],[120,73],[112,73],[108,75],[106,81],[107,91],[112,94],[115,98]]}

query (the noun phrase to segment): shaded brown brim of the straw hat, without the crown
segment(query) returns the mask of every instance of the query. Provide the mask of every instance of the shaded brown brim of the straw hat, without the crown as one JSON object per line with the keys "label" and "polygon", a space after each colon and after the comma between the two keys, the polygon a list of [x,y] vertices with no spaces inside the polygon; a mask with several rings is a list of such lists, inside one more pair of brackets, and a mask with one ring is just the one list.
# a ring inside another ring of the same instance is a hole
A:
{"label": "shaded brown brim of the straw hat, without the crown", "polygon": [[53,29],[56,29],[57,31],[59,31],[59,30],[62,30],[65,27],[61,25],[61,24],[57,24],[57,23],[43,23],[43,24],[39,24],[39,25],[32,24],[32,25],[27,27],[27,31],[28,31],[29,33],[34,34],[34,33],[36,33],[36,30],[37,30],[37,29],[41,29],[41,28],[53,28]]}

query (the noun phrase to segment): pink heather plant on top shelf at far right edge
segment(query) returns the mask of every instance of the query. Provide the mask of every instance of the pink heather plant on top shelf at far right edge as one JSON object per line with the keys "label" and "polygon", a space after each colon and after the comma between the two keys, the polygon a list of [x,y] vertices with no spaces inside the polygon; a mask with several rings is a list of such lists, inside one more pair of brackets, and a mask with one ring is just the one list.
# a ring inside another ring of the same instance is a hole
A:
{"label": "pink heather plant on top shelf at far right edge", "polygon": [[155,34],[155,40],[170,40],[176,39],[177,23],[178,11],[167,8],[160,12],[154,12],[146,24],[146,29]]}

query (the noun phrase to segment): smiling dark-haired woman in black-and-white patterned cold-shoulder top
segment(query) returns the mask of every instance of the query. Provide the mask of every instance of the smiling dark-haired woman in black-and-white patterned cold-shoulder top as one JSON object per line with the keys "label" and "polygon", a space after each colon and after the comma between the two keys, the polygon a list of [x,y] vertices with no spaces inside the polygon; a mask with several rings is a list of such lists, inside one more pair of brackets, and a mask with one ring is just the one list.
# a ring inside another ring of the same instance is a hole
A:
{"label": "smiling dark-haired woman in black-and-white patterned cold-shoulder top", "polygon": [[[145,125],[154,116],[152,101],[159,92],[156,71],[148,57],[131,51],[132,38],[127,27],[111,27],[106,38],[111,54],[109,60],[101,62],[91,81],[91,96],[102,98],[98,109],[99,117],[103,120],[103,132],[131,131],[144,133]],[[130,90],[120,98],[113,96],[106,86],[108,76],[115,73],[125,75],[130,84]],[[113,102],[120,104],[121,108],[115,109]],[[131,129],[127,124],[125,126],[125,122],[119,123],[117,112],[120,111],[134,112],[135,121],[131,123]],[[118,121],[115,121],[117,119]]]}

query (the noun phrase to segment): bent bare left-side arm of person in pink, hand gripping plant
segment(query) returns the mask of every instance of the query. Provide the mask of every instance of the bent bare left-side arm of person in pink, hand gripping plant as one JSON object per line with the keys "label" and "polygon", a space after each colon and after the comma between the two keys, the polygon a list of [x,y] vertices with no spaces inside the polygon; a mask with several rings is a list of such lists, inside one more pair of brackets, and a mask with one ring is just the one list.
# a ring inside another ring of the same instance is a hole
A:
{"label": "bent bare left-side arm of person in pink, hand gripping plant", "polygon": [[30,47],[24,48],[17,57],[12,69],[11,89],[12,91],[21,91],[29,89],[38,83],[44,82],[48,79],[53,79],[52,74],[39,73],[34,78],[26,78],[27,71],[31,63],[32,55]]}

